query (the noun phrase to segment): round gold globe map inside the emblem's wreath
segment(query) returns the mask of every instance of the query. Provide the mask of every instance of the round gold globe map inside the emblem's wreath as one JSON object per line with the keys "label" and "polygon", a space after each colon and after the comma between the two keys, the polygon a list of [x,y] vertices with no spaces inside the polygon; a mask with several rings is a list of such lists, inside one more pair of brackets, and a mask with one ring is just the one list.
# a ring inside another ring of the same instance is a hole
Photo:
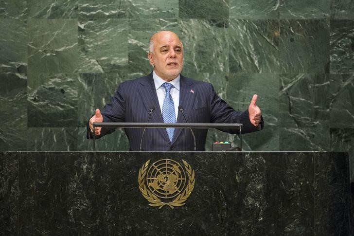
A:
{"label": "round gold globe map inside the emblem's wreath", "polygon": [[164,159],[153,163],[147,171],[146,184],[157,197],[176,197],[186,186],[186,173],[176,161]]}

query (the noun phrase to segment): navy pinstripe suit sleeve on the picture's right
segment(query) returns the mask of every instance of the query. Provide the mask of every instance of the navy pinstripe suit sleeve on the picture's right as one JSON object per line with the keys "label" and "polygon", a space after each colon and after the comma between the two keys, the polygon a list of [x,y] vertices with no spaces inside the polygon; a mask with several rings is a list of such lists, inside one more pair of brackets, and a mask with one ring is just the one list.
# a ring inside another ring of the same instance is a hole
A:
{"label": "navy pinstripe suit sleeve on the picture's right", "polygon": [[[212,84],[210,84],[210,110],[212,123],[241,123],[242,133],[250,133],[263,129],[264,121],[261,117],[261,123],[258,127],[252,125],[249,121],[248,109],[239,111],[231,108],[223,99],[221,99]],[[228,133],[239,133],[238,129],[220,129]]]}

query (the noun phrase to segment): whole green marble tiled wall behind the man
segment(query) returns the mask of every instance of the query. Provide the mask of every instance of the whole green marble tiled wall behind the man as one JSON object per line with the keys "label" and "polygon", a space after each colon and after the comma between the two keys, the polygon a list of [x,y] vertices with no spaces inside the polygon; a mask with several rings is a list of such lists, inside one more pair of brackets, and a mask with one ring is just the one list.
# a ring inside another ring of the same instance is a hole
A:
{"label": "whole green marble tiled wall behind the man", "polygon": [[[87,151],[86,122],[118,84],[149,73],[148,39],[175,31],[183,74],[265,118],[255,151],[347,151],[354,181],[351,0],[1,0],[0,151]],[[212,130],[213,140],[238,142]],[[127,150],[124,131],[99,150]]]}

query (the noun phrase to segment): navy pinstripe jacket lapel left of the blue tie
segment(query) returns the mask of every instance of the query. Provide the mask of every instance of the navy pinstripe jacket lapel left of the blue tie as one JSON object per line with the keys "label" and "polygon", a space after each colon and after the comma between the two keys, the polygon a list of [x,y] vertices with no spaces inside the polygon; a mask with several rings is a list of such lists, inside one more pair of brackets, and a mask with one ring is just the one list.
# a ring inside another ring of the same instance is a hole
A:
{"label": "navy pinstripe jacket lapel left of the blue tie", "polygon": [[[156,94],[154,79],[152,77],[152,73],[150,73],[146,79],[142,80],[141,85],[139,87],[139,94],[142,97],[142,102],[146,108],[146,110],[155,109],[154,113],[151,114],[150,123],[163,123],[161,109],[159,106],[158,96]],[[168,138],[166,129],[158,128],[162,137],[166,140],[170,141]]]}

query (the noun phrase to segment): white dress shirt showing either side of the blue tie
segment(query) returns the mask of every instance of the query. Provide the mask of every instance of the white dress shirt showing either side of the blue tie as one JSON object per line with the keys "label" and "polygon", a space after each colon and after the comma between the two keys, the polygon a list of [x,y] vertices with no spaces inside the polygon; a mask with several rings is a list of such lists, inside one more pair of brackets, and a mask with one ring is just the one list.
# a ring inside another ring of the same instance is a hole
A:
{"label": "white dress shirt showing either side of the blue tie", "polygon": [[[162,114],[162,106],[163,106],[163,101],[165,100],[166,90],[165,90],[164,87],[161,87],[161,85],[164,84],[167,81],[161,79],[159,77],[159,75],[157,75],[155,73],[155,70],[152,73],[152,77],[154,78],[155,89],[156,89],[156,93],[158,95],[159,105],[160,105],[161,114]],[[178,106],[179,106],[180,75],[178,74],[178,76],[176,78],[174,78],[173,80],[169,81],[168,83],[171,83],[174,86],[174,88],[171,88],[170,94],[172,96],[173,103],[175,105],[175,114],[176,114],[176,121],[177,121]]]}

